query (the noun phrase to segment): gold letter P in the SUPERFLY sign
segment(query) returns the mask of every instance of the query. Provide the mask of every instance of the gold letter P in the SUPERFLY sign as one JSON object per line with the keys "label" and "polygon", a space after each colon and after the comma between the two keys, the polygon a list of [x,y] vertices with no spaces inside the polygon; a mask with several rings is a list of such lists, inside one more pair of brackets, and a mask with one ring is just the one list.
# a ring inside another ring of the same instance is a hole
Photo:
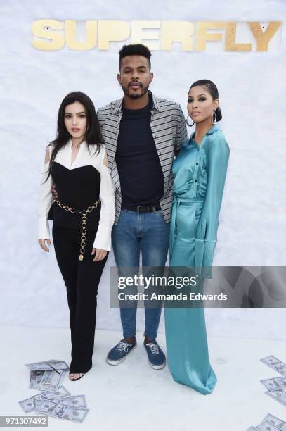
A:
{"label": "gold letter P in the SUPERFLY sign", "polygon": [[109,49],[110,42],[123,41],[130,36],[130,27],[124,21],[98,21],[98,49]]}

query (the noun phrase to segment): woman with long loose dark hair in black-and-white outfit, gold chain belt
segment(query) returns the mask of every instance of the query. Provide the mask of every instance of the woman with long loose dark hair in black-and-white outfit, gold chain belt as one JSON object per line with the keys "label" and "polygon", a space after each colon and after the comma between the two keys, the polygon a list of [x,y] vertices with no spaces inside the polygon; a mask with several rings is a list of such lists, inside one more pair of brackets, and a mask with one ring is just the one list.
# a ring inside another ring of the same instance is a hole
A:
{"label": "woman with long loose dark hair in black-and-white outfit, gold chain belt", "polygon": [[[58,193],[54,202],[53,185]],[[51,245],[48,218],[53,219],[53,244],[67,289],[72,339],[69,377],[74,381],[92,366],[96,296],[115,220],[115,188],[96,111],[82,92],[63,99],[57,137],[46,147],[38,234],[44,251]]]}

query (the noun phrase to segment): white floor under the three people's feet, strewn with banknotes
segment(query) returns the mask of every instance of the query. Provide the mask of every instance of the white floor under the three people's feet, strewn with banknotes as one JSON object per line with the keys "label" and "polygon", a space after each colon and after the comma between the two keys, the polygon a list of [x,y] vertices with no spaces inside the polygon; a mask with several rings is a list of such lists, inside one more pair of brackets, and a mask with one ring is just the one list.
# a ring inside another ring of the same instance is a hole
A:
{"label": "white floor under the three people's feet, strewn with banknotes", "polygon": [[[28,389],[25,363],[49,358],[70,361],[67,329],[1,326],[0,415],[26,416],[18,401],[37,394]],[[152,370],[137,334],[138,346],[119,366],[105,356],[121,335],[96,331],[93,368],[79,382],[63,385],[71,394],[85,394],[90,411],[84,423],[49,418],[49,430],[246,431],[267,413],[286,420],[286,406],[265,395],[259,380],[279,377],[259,358],[286,359],[286,342],[209,337],[209,351],[218,383],[211,395],[178,385],[168,368]],[[164,347],[164,335],[158,336]],[[34,413],[31,413],[34,414]]]}

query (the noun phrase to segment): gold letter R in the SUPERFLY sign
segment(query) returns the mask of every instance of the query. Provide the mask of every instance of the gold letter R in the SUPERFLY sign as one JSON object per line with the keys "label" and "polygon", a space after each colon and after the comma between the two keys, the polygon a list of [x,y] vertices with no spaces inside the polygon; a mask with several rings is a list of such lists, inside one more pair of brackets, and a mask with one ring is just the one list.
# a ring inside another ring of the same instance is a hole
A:
{"label": "gold letter R in the SUPERFLY sign", "polygon": [[194,25],[190,21],[162,21],[161,49],[171,51],[172,42],[181,42],[182,51],[193,51]]}

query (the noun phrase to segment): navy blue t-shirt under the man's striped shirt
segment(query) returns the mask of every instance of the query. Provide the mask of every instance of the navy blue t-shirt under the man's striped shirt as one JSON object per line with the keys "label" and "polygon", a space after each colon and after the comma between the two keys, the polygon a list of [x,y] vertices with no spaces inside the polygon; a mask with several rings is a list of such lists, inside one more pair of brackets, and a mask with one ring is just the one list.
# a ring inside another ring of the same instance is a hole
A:
{"label": "navy blue t-shirt under the man's striped shirt", "polygon": [[115,160],[122,208],[158,205],[164,194],[164,176],[151,131],[152,95],[145,108],[122,108]]}

